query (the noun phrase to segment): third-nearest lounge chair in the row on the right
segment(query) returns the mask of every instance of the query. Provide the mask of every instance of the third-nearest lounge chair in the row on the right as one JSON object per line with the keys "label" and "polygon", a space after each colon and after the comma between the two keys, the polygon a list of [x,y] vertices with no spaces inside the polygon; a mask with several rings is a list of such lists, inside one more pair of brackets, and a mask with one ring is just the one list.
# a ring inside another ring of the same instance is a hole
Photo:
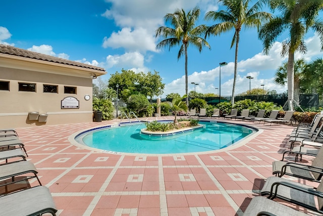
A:
{"label": "third-nearest lounge chair in the row on the right", "polygon": [[[305,153],[299,153],[305,154]],[[293,176],[313,182],[320,182],[323,175],[323,148],[320,148],[311,165],[305,163],[286,162],[277,160],[273,162],[273,175],[283,177]]]}

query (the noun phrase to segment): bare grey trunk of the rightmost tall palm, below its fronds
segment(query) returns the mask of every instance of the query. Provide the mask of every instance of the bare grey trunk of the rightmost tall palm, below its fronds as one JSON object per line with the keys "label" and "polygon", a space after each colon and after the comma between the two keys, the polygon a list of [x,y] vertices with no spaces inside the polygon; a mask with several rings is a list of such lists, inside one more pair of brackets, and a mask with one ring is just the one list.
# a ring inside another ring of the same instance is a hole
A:
{"label": "bare grey trunk of the rightmost tall palm, below its fronds", "polygon": [[294,110],[294,52],[289,50],[287,62],[288,110]]}

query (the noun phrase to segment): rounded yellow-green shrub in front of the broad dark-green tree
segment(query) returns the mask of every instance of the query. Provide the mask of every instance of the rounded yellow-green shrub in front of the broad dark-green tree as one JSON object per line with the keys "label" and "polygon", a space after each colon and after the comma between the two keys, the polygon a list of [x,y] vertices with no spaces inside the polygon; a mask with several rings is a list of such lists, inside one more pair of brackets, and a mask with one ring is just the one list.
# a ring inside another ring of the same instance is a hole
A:
{"label": "rounded yellow-green shrub in front of the broad dark-green tree", "polygon": [[144,95],[132,95],[127,102],[127,108],[133,111],[138,117],[143,117],[149,106],[149,101]]}

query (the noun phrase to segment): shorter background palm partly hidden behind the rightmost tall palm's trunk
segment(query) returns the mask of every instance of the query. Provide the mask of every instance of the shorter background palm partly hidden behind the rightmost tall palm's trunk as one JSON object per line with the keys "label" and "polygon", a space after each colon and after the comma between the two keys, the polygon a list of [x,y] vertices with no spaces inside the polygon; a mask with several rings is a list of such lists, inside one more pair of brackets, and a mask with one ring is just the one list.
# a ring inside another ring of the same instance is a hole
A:
{"label": "shorter background palm partly hidden behind the rightmost tall palm's trunk", "polygon": [[[274,82],[278,85],[285,86],[287,83],[287,67],[288,64],[285,62],[283,65],[279,66],[276,70]],[[302,79],[302,73],[306,67],[306,62],[304,59],[298,59],[294,65],[294,95],[295,98],[299,97],[300,81]]]}

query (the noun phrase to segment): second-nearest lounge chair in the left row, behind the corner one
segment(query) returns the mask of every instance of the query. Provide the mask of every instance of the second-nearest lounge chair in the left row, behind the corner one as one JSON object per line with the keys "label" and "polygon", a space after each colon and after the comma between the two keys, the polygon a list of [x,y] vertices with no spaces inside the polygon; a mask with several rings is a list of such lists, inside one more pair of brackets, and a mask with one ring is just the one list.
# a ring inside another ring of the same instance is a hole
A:
{"label": "second-nearest lounge chair in the left row, behind the corner one", "polygon": [[[20,161],[20,162],[16,162],[16,163],[7,163],[4,165],[0,166],[0,180],[6,180],[11,178],[12,181],[9,183],[0,183],[0,187],[1,186],[5,186],[5,185],[10,185],[16,182],[21,182],[21,181],[25,181],[25,180],[29,180],[32,178],[36,178],[38,180],[39,185],[41,185],[38,177],[37,177],[37,169],[35,167],[35,165],[30,162],[30,161]],[[32,174],[32,176],[26,176],[25,174]],[[21,176],[23,175],[24,178],[19,178],[17,180],[15,180],[15,177]]]}

